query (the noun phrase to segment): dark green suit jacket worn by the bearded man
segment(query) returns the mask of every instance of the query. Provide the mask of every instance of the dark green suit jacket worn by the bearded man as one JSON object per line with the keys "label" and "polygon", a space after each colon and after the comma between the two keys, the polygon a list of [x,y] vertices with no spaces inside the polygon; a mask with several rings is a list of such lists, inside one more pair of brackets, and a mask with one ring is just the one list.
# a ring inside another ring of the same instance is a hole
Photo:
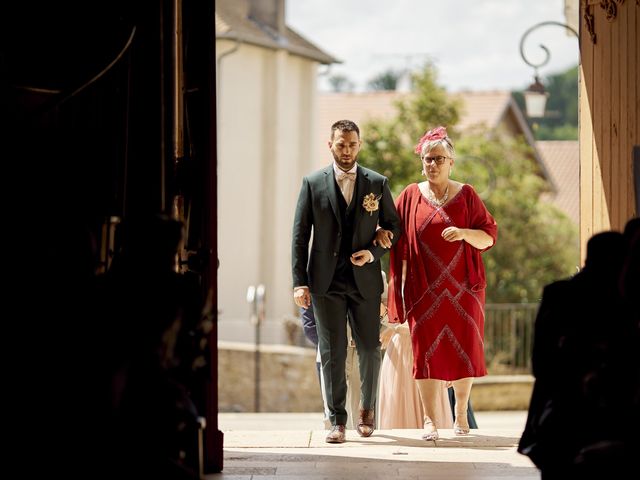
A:
{"label": "dark green suit jacket worn by the bearded man", "polygon": [[[400,219],[386,177],[358,166],[356,183],[351,200],[355,202],[352,252],[370,250],[374,261],[362,267],[352,265],[352,268],[360,294],[370,298],[382,293],[380,257],[388,251],[373,246],[376,228],[380,225],[391,230],[395,243],[400,236]],[[363,200],[371,193],[380,196],[380,200],[379,208],[370,214],[363,207]],[[342,235],[338,195],[342,193],[334,179],[333,164],[302,180],[293,223],[293,286],[306,285],[312,294],[327,292],[338,262]],[[312,230],[313,241],[309,252]]]}

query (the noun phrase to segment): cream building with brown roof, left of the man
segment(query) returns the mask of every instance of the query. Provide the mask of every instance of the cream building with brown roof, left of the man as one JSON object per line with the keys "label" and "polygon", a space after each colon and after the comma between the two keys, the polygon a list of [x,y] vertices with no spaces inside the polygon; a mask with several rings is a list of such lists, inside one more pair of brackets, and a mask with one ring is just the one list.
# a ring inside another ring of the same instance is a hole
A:
{"label": "cream building with brown roof, left of the man", "polygon": [[[291,227],[311,169],[317,68],[336,60],[288,28],[284,0],[215,7],[219,337],[253,342],[247,288],[266,288],[263,340],[286,343]],[[273,328],[271,328],[273,327]]]}

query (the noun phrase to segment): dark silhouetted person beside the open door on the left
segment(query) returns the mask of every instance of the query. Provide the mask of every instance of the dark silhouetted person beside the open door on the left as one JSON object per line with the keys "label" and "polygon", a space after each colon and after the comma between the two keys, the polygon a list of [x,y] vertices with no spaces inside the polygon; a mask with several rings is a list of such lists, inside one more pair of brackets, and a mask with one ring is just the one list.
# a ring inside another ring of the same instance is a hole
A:
{"label": "dark silhouetted person beside the open door on the left", "polygon": [[181,238],[182,224],[162,215],[125,223],[102,279],[114,478],[197,478],[198,412],[176,353],[193,304],[175,271]]}

